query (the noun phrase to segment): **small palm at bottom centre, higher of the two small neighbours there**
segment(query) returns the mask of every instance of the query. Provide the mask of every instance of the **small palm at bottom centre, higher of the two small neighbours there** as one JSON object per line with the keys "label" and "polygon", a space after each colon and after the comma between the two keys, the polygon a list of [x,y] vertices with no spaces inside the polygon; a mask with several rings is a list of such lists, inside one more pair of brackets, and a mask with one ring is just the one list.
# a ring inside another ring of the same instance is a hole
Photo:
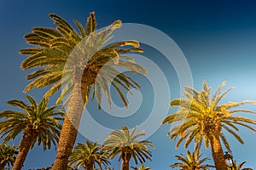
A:
{"label": "small palm at bottom centre, higher of the two small neighbours there", "polygon": [[135,134],[137,127],[134,127],[129,132],[128,127],[122,127],[122,130],[114,130],[110,133],[107,139],[105,139],[103,145],[110,150],[110,158],[119,155],[119,161],[122,159],[122,170],[129,169],[129,162],[131,158],[137,164],[138,161],[143,163],[146,159],[151,161],[151,152],[148,150],[148,146],[154,148],[154,145],[148,141],[139,141],[138,138],[145,135],[142,131]]}

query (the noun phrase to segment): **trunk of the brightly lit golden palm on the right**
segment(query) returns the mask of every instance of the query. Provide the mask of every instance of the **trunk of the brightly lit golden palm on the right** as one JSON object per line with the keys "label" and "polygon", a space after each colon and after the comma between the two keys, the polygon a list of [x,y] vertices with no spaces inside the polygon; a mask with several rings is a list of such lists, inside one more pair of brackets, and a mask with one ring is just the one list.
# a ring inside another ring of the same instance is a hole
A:
{"label": "trunk of the brightly lit golden palm on the right", "polygon": [[210,136],[210,143],[212,147],[212,157],[217,170],[228,170],[224,161],[224,152],[220,144],[218,133],[212,134]]}

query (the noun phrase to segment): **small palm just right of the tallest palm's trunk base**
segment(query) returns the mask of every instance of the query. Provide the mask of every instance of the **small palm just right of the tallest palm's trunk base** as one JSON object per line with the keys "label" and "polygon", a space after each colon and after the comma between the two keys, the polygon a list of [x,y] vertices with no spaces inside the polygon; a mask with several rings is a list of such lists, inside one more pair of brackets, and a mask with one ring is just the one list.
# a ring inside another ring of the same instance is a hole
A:
{"label": "small palm just right of the tallest palm's trunk base", "polygon": [[70,164],[76,162],[76,167],[84,167],[85,170],[93,170],[96,164],[102,169],[102,165],[107,166],[108,152],[89,140],[85,144],[79,143],[74,147],[72,154],[69,157]]}

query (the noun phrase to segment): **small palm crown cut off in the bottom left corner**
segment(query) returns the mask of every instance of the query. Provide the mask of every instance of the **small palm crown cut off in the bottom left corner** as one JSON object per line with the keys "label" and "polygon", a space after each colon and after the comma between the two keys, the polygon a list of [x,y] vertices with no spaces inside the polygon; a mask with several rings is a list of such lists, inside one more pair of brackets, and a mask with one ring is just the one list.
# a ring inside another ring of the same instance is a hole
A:
{"label": "small palm crown cut off in the bottom left corner", "polygon": [[0,169],[8,166],[10,169],[14,165],[16,155],[18,154],[18,147],[14,145],[1,144],[0,145]]}

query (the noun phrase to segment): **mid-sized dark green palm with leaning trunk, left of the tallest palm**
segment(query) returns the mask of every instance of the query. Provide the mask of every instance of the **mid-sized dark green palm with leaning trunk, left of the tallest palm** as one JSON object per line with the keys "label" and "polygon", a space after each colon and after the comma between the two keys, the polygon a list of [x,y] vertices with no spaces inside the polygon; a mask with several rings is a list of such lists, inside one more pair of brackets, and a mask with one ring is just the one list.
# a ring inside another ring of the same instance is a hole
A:
{"label": "mid-sized dark green palm with leaning trunk, left of the tallest palm", "polygon": [[[42,99],[39,104],[32,96],[26,95],[30,105],[19,99],[9,100],[8,104],[18,107],[21,111],[3,111],[0,113],[0,138],[3,143],[10,139],[15,139],[17,135],[23,133],[20,141],[19,153],[15,159],[13,170],[20,170],[26,160],[26,155],[32,146],[38,142],[43,144],[44,150],[50,149],[51,144],[55,146],[58,142],[61,125],[60,116],[64,113],[57,111],[58,105],[47,107],[49,99]],[[23,110],[23,111],[22,111]]]}

